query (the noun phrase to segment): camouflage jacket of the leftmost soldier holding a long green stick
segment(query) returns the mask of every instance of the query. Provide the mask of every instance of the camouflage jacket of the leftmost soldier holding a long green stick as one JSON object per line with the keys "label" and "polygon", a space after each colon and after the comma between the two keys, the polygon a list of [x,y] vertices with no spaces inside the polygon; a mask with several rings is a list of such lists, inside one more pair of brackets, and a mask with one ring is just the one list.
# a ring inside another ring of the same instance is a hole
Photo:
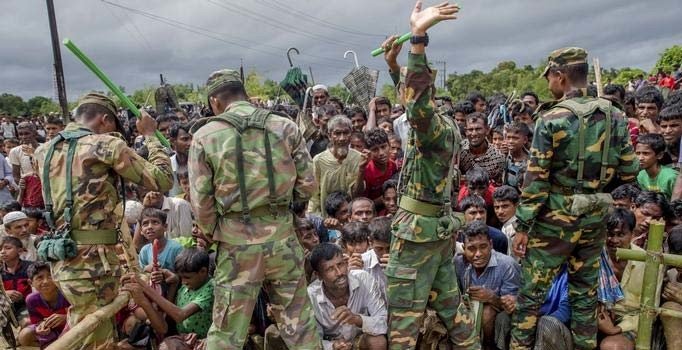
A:
{"label": "camouflage jacket of the leftmost soldier holding a long green stick", "polygon": [[[85,126],[75,122],[69,123],[65,131],[78,129],[85,129]],[[49,145],[46,143],[35,151],[38,174],[41,177]],[[163,145],[155,137],[147,138],[145,145],[149,149],[149,160],[145,160],[129,148],[119,133],[93,134],[78,140],[71,174],[74,200],[71,220],[73,229],[115,229],[121,223],[123,205],[119,199],[118,175],[150,191],[166,192],[172,187],[173,172]],[[41,179],[43,182],[50,181],[57,226],[64,222],[66,150],[65,142],[55,146],[49,165],[50,178]],[[43,196],[45,197],[45,194]]]}

